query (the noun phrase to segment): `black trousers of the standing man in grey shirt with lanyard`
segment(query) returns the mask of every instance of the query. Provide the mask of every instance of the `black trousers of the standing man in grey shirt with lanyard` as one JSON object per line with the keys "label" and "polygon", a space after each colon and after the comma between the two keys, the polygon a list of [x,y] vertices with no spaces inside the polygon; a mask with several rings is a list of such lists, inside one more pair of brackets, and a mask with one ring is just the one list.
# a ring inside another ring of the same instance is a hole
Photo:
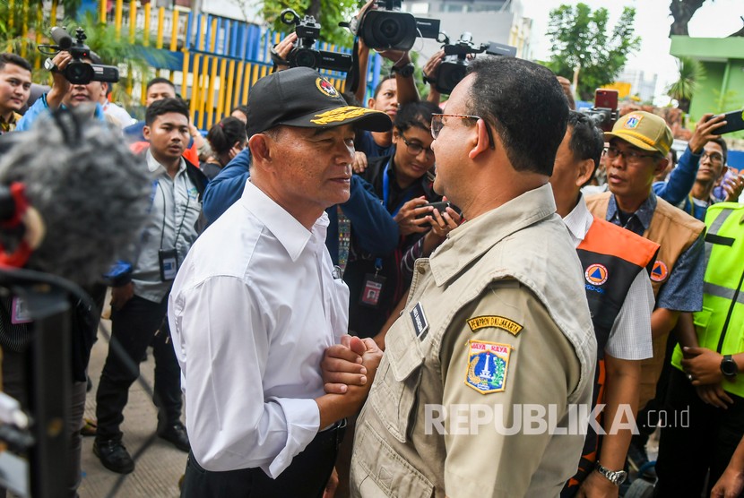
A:
{"label": "black trousers of the standing man in grey shirt with lanyard", "polygon": [[155,357],[154,391],[155,404],[160,408],[158,418],[163,424],[180,419],[183,406],[181,369],[170,340],[167,311],[168,296],[160,303],[133,296],[121,310],[112,310],[111,343],[96,391],[96,437],[100,441],[121,438],[119,425],[124,421],[129,388],[139,377],[140,361],[150,344]]}

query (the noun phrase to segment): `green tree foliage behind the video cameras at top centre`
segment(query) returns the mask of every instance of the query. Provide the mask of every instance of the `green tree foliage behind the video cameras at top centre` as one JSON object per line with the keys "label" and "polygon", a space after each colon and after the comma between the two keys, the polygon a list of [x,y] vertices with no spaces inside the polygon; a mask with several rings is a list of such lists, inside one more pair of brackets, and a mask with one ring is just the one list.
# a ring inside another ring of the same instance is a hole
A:
{"label": "green tree foliage behind the video cameras at top centre", "polygon": [[339,26],[339,22],[349,21],[361,8],[355,0],[266,0],[262,14],[273,30],[290,33],[294,25],[281,22],[279,14],[286,8],[294,9],[299,17],[312,15],[320,22],[320,41],[350,47],[353,41],[351,33]]}

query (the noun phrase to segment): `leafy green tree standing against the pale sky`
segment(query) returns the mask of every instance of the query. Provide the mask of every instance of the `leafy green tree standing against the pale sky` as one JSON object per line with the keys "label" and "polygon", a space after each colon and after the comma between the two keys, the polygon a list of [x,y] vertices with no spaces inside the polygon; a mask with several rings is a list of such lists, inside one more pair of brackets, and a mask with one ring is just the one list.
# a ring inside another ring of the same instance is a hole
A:
{"label": "leafy green tree standing against the pale sky", "polygon": [[580,68],[577,93],[583,100],[592,99],[595,89],[613,82],[627,55],[641,42],[635,36],[635,8],[625,7],[611,31],[608,17],[607,9],[592,12],[587,4],[563,4],[549,14],[551,56],[547,65],[569,80],[575,68]]}

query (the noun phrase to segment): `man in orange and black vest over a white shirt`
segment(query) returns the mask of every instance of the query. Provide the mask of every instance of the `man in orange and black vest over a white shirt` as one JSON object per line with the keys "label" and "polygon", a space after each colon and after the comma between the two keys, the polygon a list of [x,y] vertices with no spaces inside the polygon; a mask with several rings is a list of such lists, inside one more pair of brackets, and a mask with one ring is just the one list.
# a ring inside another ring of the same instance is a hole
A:
{"label": "man in orange and black vest over a white shirt", "polygon": [[[600,438],[590,426],[578,472],[561,494],[618,496],[638,406],[640,360],[653,356],[649,271],[659,245],[602,219],[595,219],[580,191],[594,175],[604,147],[590,119],[571,111],[558,147],[550,185],[584,268],[599,366],[593,403],[605,403]],[[629,410],[629,411],[628,411]],[[615,425],[616,430],[613,429]],[[618,430],[619,429],[619,430]],[[598,446],[601,451],[598,452]],[[595,471],[596,470],[596,471]]]}

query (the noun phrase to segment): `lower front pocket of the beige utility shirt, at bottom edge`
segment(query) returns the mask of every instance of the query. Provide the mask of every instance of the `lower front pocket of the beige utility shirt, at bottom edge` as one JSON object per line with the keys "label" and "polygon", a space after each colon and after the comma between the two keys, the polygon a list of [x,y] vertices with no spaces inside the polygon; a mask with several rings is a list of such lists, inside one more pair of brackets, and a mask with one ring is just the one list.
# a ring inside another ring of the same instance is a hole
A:
{"label": "lower front pocket of the beige utility shirt, at bottom edge", "polygon": [[[434,485],[385,442],[371,425],[357,427],[351,479],[365,498],[431,498]],[[369,482],[372,481],[372,482]]]}

